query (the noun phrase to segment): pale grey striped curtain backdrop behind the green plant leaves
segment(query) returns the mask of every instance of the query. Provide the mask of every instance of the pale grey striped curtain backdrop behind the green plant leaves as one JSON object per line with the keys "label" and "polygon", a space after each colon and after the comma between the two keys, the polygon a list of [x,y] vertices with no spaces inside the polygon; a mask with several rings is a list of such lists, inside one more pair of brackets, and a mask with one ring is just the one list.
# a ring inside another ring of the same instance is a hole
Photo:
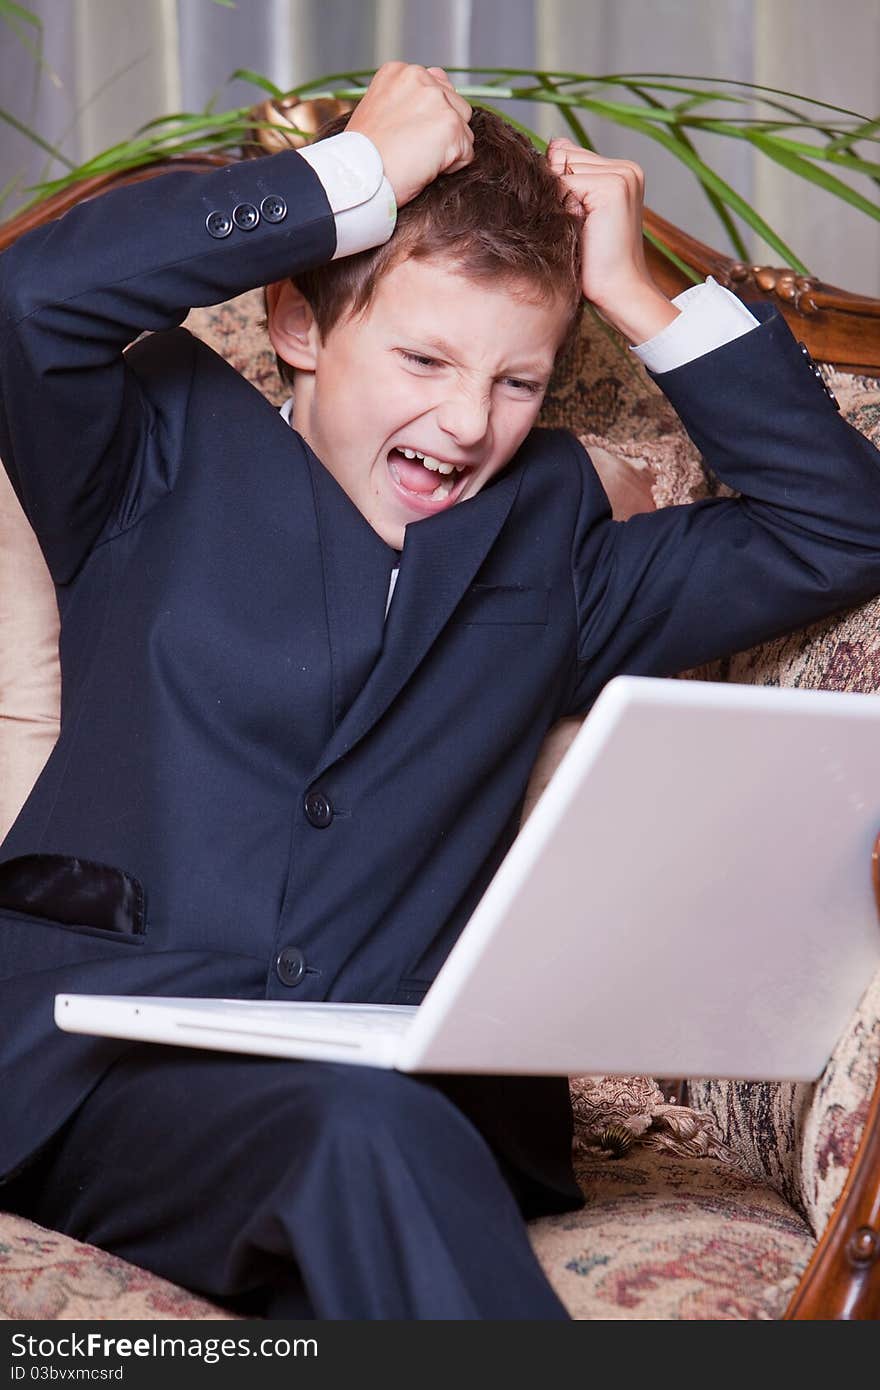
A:
{"label": "pale grey striped curtain backdrop behind the green plant leaves", "polygon": [[[40,14],[47,68],[0,26],[0,106],[79,161],[156,115],[256,99],[228,82],[250,68],[288,88],[398,57],[477,70],[690,72],[766,83],[876,115],[880,0],[22,0]],[[542,135],[546,107],[514,110]],[[637,158],[651,207],[722,249],[724,232],[691,174],[655,142],[588,120],[605,154]],[[880,224],[770,164],[740,140],[698,150],[823,279],[880,296]],[[0,188],[60,172],[0,125]],[[852,186],[876,199],[856,177]],[[0,208],[8,215],[21,197]],[[749,232],[755,260],[779,257]]]}

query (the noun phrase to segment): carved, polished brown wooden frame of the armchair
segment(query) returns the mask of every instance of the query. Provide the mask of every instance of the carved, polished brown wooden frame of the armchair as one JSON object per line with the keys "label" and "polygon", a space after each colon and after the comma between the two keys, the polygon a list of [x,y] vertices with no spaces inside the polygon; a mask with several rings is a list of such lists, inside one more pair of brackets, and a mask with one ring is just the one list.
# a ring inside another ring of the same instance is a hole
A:
{"label": "carved, polished brown wooden frame of the armchair", "polygon": [[[85,179],[0,224],[0,252],[31,228],[110,188],[171,170],[209,170],[229,161],[227,154],[196,153]],[[649,210],[645,225],[701,277],[713,275],[747,302],[776,303],[817,361],[880,377],[880,299],[851,295],[787,268],[744,265]],[[645,252],[651,274],[665,293],[677,295],[692,284],[648,240]],[[880,835],[872,862],[880,912]],[[880,1318],[880,1074],[844,1191],[783,1316],[784,1320]]]}

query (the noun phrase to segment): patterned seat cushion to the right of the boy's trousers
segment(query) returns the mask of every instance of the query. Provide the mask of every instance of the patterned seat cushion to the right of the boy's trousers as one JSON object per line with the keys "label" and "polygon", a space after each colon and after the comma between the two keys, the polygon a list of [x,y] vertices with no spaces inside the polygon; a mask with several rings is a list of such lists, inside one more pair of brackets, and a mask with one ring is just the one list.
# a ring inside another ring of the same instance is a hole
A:
{"label": "patterned seat cushion to the right of the boy's trousers", "polygon": [[530,1226],[577,1319],[774,1319],[812,1250],[806,1222],[727,1162],[639,1145],[624,1159],[576,1150],[587,1205]]}

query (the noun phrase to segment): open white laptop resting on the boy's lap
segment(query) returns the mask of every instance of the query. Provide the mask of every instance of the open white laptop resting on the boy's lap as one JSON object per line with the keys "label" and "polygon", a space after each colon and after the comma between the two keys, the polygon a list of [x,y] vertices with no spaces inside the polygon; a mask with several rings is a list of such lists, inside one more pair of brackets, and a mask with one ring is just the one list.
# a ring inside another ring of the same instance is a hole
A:
{"label": "open white laptop resting on the boy's lap", "polygon": [[812,1080],[880,965],[880,699],[619,676],[418,1006],[60,994],[72,1033],[402,1072]]}

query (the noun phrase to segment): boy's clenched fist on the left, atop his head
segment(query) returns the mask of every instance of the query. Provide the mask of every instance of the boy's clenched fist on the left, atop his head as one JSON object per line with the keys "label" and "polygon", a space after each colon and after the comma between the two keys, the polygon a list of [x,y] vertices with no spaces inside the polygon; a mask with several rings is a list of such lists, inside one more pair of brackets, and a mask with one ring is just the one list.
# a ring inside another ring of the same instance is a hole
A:
{"label": "boy's clenched fist on the left, atop his head", "polygon": [[384,63],[346,129],[360,131],[382,157],[398,207],[438,174],[453,174],[474,157],[471,108],[442,68]]}

